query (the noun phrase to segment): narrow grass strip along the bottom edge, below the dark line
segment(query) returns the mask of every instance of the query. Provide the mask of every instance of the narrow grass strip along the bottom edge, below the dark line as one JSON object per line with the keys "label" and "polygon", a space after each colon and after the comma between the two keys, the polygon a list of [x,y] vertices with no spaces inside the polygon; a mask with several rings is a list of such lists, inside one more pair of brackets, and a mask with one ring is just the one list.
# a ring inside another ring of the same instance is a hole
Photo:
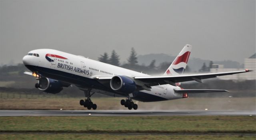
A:
{"label": "narrow grass strip along the bottom edge, below the dark line", "polygon": [[255,140],[255,136],[108,135],[108,134],[0,134],[4,140]]}

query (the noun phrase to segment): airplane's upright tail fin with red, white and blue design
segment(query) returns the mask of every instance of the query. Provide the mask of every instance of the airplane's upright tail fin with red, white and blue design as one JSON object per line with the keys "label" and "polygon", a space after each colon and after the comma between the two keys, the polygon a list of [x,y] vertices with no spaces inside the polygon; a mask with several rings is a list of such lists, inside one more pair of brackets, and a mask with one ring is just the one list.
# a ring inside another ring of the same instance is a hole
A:
{"label": "airplane's upright tail fin with red, white and blue design", "polygon": [[191,52],[192,46],[186,44],[170,67],[164,72],[164,75],[180,75],[183,74],[186,69],[188,58]]}

